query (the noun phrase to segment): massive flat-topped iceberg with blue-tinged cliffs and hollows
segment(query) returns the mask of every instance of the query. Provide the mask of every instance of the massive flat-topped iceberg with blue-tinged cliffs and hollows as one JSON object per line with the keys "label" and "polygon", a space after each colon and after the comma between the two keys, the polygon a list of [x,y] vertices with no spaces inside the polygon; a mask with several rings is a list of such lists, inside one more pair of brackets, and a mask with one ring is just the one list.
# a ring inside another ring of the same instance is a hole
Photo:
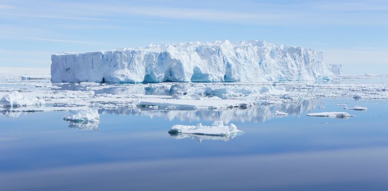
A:
{"label": "massive flat-topped iceberg with blue-tinged cliffs and hollows", "polygon": [[51,56],[52,82],[316,80],[340,74],[322,52],[265,41],[149,45]]}

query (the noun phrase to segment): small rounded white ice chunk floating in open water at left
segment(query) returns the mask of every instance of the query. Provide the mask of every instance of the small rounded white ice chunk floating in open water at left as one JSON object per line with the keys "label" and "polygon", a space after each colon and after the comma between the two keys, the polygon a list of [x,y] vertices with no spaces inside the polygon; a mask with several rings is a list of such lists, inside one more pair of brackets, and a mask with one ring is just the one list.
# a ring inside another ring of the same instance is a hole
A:
{"label": "small rounded white ice chunk floating in open water at left", "polygon": [[100,115],[98,110],[92,108],[70,111],[71,114],[65,115],[64,120],[73,122],[99,122]]}

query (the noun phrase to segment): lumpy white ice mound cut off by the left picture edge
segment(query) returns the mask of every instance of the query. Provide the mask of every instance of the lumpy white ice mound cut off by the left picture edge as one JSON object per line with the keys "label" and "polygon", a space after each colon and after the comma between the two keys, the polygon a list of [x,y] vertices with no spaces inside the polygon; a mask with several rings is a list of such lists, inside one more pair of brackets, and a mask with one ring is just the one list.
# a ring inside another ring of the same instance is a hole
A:
{"label": "lumpy white ice mound cut off by the left picture edge", "polygon": [[21,106],[42,106],[45,105],[43,99],[37,97],[27,97],[17,91],[10,92],[0,99],[0,107],[21,107]]}

